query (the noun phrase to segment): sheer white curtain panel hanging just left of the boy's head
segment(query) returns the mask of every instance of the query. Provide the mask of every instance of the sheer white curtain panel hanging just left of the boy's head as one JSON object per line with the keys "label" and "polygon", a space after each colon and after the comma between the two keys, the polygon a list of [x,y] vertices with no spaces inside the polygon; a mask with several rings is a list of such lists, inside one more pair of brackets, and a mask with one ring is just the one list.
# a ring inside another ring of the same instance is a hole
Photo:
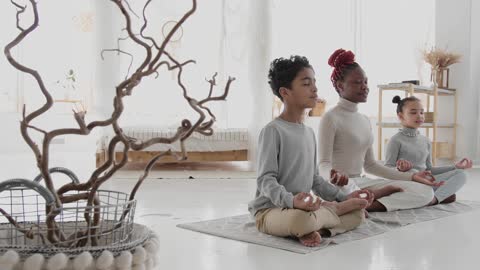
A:
{"label": "sheer white curtain panel hanging just left of the boy's head", "polygon": [[270,0],[223,0],[222,69],[237,78],[227,103],[228,127],[248,128],[252,168],[258,134],[271,120],[271,12]]}

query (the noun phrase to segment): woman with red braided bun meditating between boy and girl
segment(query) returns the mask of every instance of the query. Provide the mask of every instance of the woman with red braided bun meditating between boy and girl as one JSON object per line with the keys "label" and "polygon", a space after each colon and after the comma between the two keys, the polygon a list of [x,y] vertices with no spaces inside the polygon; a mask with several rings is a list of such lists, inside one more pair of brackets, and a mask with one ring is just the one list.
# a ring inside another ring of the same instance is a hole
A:
{"label": "woman with red braided bun meditating between boy and girl", "polygon": [[[328,179],[334,168],[343,177],[333,183],[342,186],[342,193],[359,189],[374,193],[368,211],[395,211],[426,206],[433,200],[431,186],[439,186],[428,178],[429,173],[400,172],[378,162],[373,155],[370,120],[358,112],[358,103],[367,101],[368,79],[355,62],[351,51],[336,50],[328,63],[334,68],[331,81],[340,101],[320,122],[319,171]],[[363,170],[384,179],[365,177]]]}

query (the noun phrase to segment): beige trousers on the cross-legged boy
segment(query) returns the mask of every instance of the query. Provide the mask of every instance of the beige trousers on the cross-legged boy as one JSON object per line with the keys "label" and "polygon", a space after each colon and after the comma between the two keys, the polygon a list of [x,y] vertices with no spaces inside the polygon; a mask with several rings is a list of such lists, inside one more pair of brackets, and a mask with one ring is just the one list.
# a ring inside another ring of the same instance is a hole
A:
{"label": "beige trousers on the cross-legged boy", "polygon": [[280,236],[302,237],[314,231],[327,230],[331,236],[355,229],[364,220],[361,210],[355,210],[337,216],[328,207],[307,212],[290,208],[262,209],[255,215],[257,229],[260,232]]}

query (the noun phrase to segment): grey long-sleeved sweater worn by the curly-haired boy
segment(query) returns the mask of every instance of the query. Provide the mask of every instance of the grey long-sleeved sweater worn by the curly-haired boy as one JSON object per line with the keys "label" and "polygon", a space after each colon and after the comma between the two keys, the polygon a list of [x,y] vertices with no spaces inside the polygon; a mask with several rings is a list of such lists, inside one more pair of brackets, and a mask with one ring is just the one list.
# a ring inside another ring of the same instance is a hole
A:
{"label": "grey long-sleeved sweater worn by the curly-haired boy", "polygon": [[248,204],[254,216],[265,208],[293,208],[293,197],[311,190],[324,200],[345,200],[339,188],[320,177],[313,130],[304,124],[276,118],[260,132],[255,199]]}

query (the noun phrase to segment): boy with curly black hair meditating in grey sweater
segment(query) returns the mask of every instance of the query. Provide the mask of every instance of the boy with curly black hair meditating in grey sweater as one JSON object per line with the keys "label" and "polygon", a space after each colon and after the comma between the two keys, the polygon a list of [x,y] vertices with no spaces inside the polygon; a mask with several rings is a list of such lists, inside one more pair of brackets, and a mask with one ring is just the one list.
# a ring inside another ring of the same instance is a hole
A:
{"label": "boy with curly black hair meditating in grey sweater", "polygon": [[[257,191],[248,208],[259,231],[318,246],[320,233],[333,236],[360,225],[373,195],[359,190],[347,196],[319,176],[315,135],[302,123],[305,110],[315,107],[318,99],[308,60],[301,56],[275,59],[268,77],[284,110],[260,133]],[[310,191],[342,202],[322,201]]]}

